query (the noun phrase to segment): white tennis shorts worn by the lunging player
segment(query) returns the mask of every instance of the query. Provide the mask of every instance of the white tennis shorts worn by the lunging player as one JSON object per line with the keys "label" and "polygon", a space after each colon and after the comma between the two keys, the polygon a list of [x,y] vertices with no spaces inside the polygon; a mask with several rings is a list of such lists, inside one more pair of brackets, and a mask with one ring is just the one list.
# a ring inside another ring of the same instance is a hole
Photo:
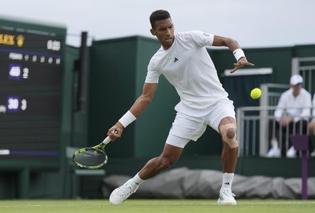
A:
{"label": "white tennis shorts worn by the lunging player", "polygon": [[166,143],[184,148],[189,141],[197,141],[206,131],[207,125],[219,132],[221,120],[228,116],[236,119],[233,102],[230,100],[215,104],[209,114],[202,117],[188,116],[177,112]]}

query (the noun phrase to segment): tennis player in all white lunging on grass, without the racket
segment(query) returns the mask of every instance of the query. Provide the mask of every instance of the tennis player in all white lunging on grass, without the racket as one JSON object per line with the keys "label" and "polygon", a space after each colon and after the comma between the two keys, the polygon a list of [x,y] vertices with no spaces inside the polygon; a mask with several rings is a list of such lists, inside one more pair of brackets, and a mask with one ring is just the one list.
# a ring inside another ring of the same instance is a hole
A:
{"label": "tennis player in all white lunging on grass, without the racket", "polygon": [[[221,134],[223,141],[223,182],[217,203],[236,204],[235,195],[231,191],[238,158],[235,111],[205,47],[228,47],[237,61],[231,73],[244,65],[253,64],[246,60],[243,50],[231,38],[200,31],[175,34],[167,11],[154,11],[150,15],[150,23],[150,32],[162,46],[150,60],[143,93],[131,109],[109,129],[108,136],[112,139],[121,137],[123,129],[143,113],[153,99],[161,74],[175,87],[180,102],[175,107],[177,115],[160,156],[149,160],[135,177],[114,190],[109,201],[111,204],[121,204],[145,180],[170,168],[182,154],[184,146],[191,140],[197,141],[209,125]],[[117,135],[112,133],[114,130],[118,131]]]}

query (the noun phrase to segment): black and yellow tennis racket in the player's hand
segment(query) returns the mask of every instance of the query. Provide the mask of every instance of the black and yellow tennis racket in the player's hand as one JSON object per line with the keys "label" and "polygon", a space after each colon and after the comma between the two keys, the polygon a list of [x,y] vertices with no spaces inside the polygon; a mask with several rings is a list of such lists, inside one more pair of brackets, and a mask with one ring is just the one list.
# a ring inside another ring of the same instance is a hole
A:
{"label": "black and yellow tennis racket in the player's hand", "polygon": [[[114,133],[117,134],[118,131],[115,130]],[[111,142],[111,138],[107,136],[103,142],[99,143],[99,145],[79,149],[74,152],[72,156],[73,163],[79,168],[90,170],[101,168],[108,160],[105,153],[105,146],[109,142]]]}

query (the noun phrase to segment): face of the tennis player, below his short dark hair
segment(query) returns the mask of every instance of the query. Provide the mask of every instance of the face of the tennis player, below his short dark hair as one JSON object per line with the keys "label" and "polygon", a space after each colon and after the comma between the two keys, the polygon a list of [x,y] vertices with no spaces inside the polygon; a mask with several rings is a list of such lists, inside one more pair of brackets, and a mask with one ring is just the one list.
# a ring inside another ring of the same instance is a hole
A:
{"label": "face of the tennis player, below his short dark hair", "polygon": [[160,21],[155,21],[155,26],[151,30],[152,35],[155,35],[164,50],[170,48],[174,42],[174,25],[172,19],[167,18]]}

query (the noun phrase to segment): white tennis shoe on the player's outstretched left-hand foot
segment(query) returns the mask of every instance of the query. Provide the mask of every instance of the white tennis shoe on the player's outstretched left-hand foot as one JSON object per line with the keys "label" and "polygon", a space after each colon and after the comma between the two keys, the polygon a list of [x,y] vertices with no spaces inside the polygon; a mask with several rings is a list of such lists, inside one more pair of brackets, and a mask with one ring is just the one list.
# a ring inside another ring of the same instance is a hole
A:
{"label": "white tennis shoe on the player's outstretched left-hand foot", "polygon": [[139,185],[131,184],[132,180],[128,180],[121,187],[116,188],[113,192],[111,192],[111,196],[109,197],[109,202],[111,204],[121,204],[124,202],[130,195],[132,195],[138,189]]}

